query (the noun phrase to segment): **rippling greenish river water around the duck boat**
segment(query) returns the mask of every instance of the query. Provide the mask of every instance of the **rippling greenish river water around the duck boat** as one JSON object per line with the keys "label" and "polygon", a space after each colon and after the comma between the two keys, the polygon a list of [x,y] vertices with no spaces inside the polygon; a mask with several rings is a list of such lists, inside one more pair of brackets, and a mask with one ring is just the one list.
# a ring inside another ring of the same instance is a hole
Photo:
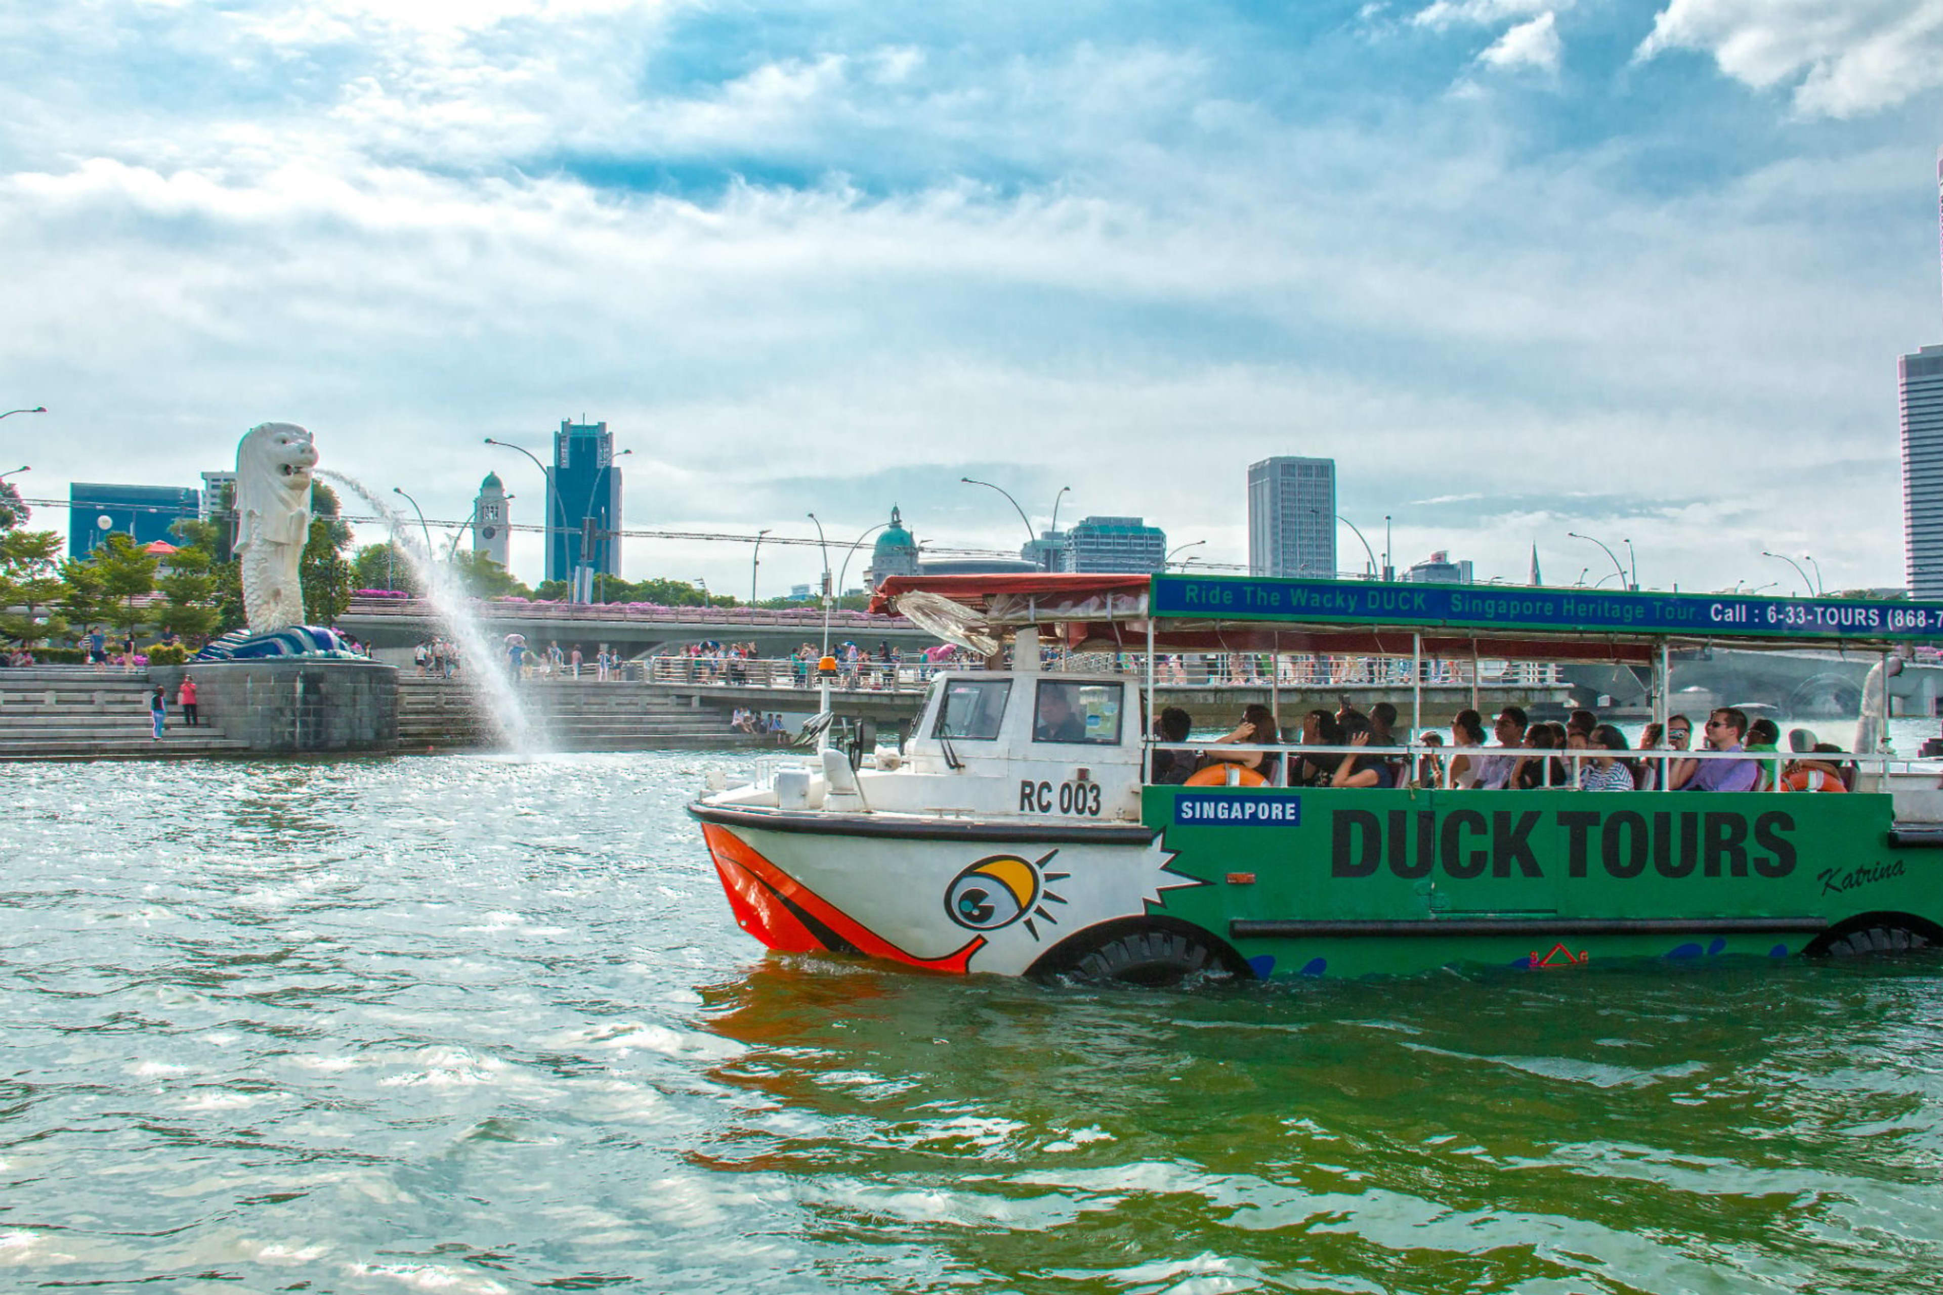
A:
{"label": "rippling greenish river water around the duck boat", "polygon": [[1937,963],[783,959],[711,761],[0,767],[0,1289],[1935,1289]]}

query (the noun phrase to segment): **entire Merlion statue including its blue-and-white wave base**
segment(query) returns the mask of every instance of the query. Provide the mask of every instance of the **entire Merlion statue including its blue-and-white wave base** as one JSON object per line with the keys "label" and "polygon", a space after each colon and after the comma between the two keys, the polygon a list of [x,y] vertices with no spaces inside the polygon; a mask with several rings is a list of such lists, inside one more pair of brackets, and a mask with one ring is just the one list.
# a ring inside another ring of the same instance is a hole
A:
{"label": "entire Merlion statue including its blue-and-white wave base", "polygon": [[303,623],[299,567],[311,538],[317,447],[295,423],[251,427],[237,445],[237,544],[243,619],[196,652],[198,662],[266,656],[356,656],[344,635]]}

